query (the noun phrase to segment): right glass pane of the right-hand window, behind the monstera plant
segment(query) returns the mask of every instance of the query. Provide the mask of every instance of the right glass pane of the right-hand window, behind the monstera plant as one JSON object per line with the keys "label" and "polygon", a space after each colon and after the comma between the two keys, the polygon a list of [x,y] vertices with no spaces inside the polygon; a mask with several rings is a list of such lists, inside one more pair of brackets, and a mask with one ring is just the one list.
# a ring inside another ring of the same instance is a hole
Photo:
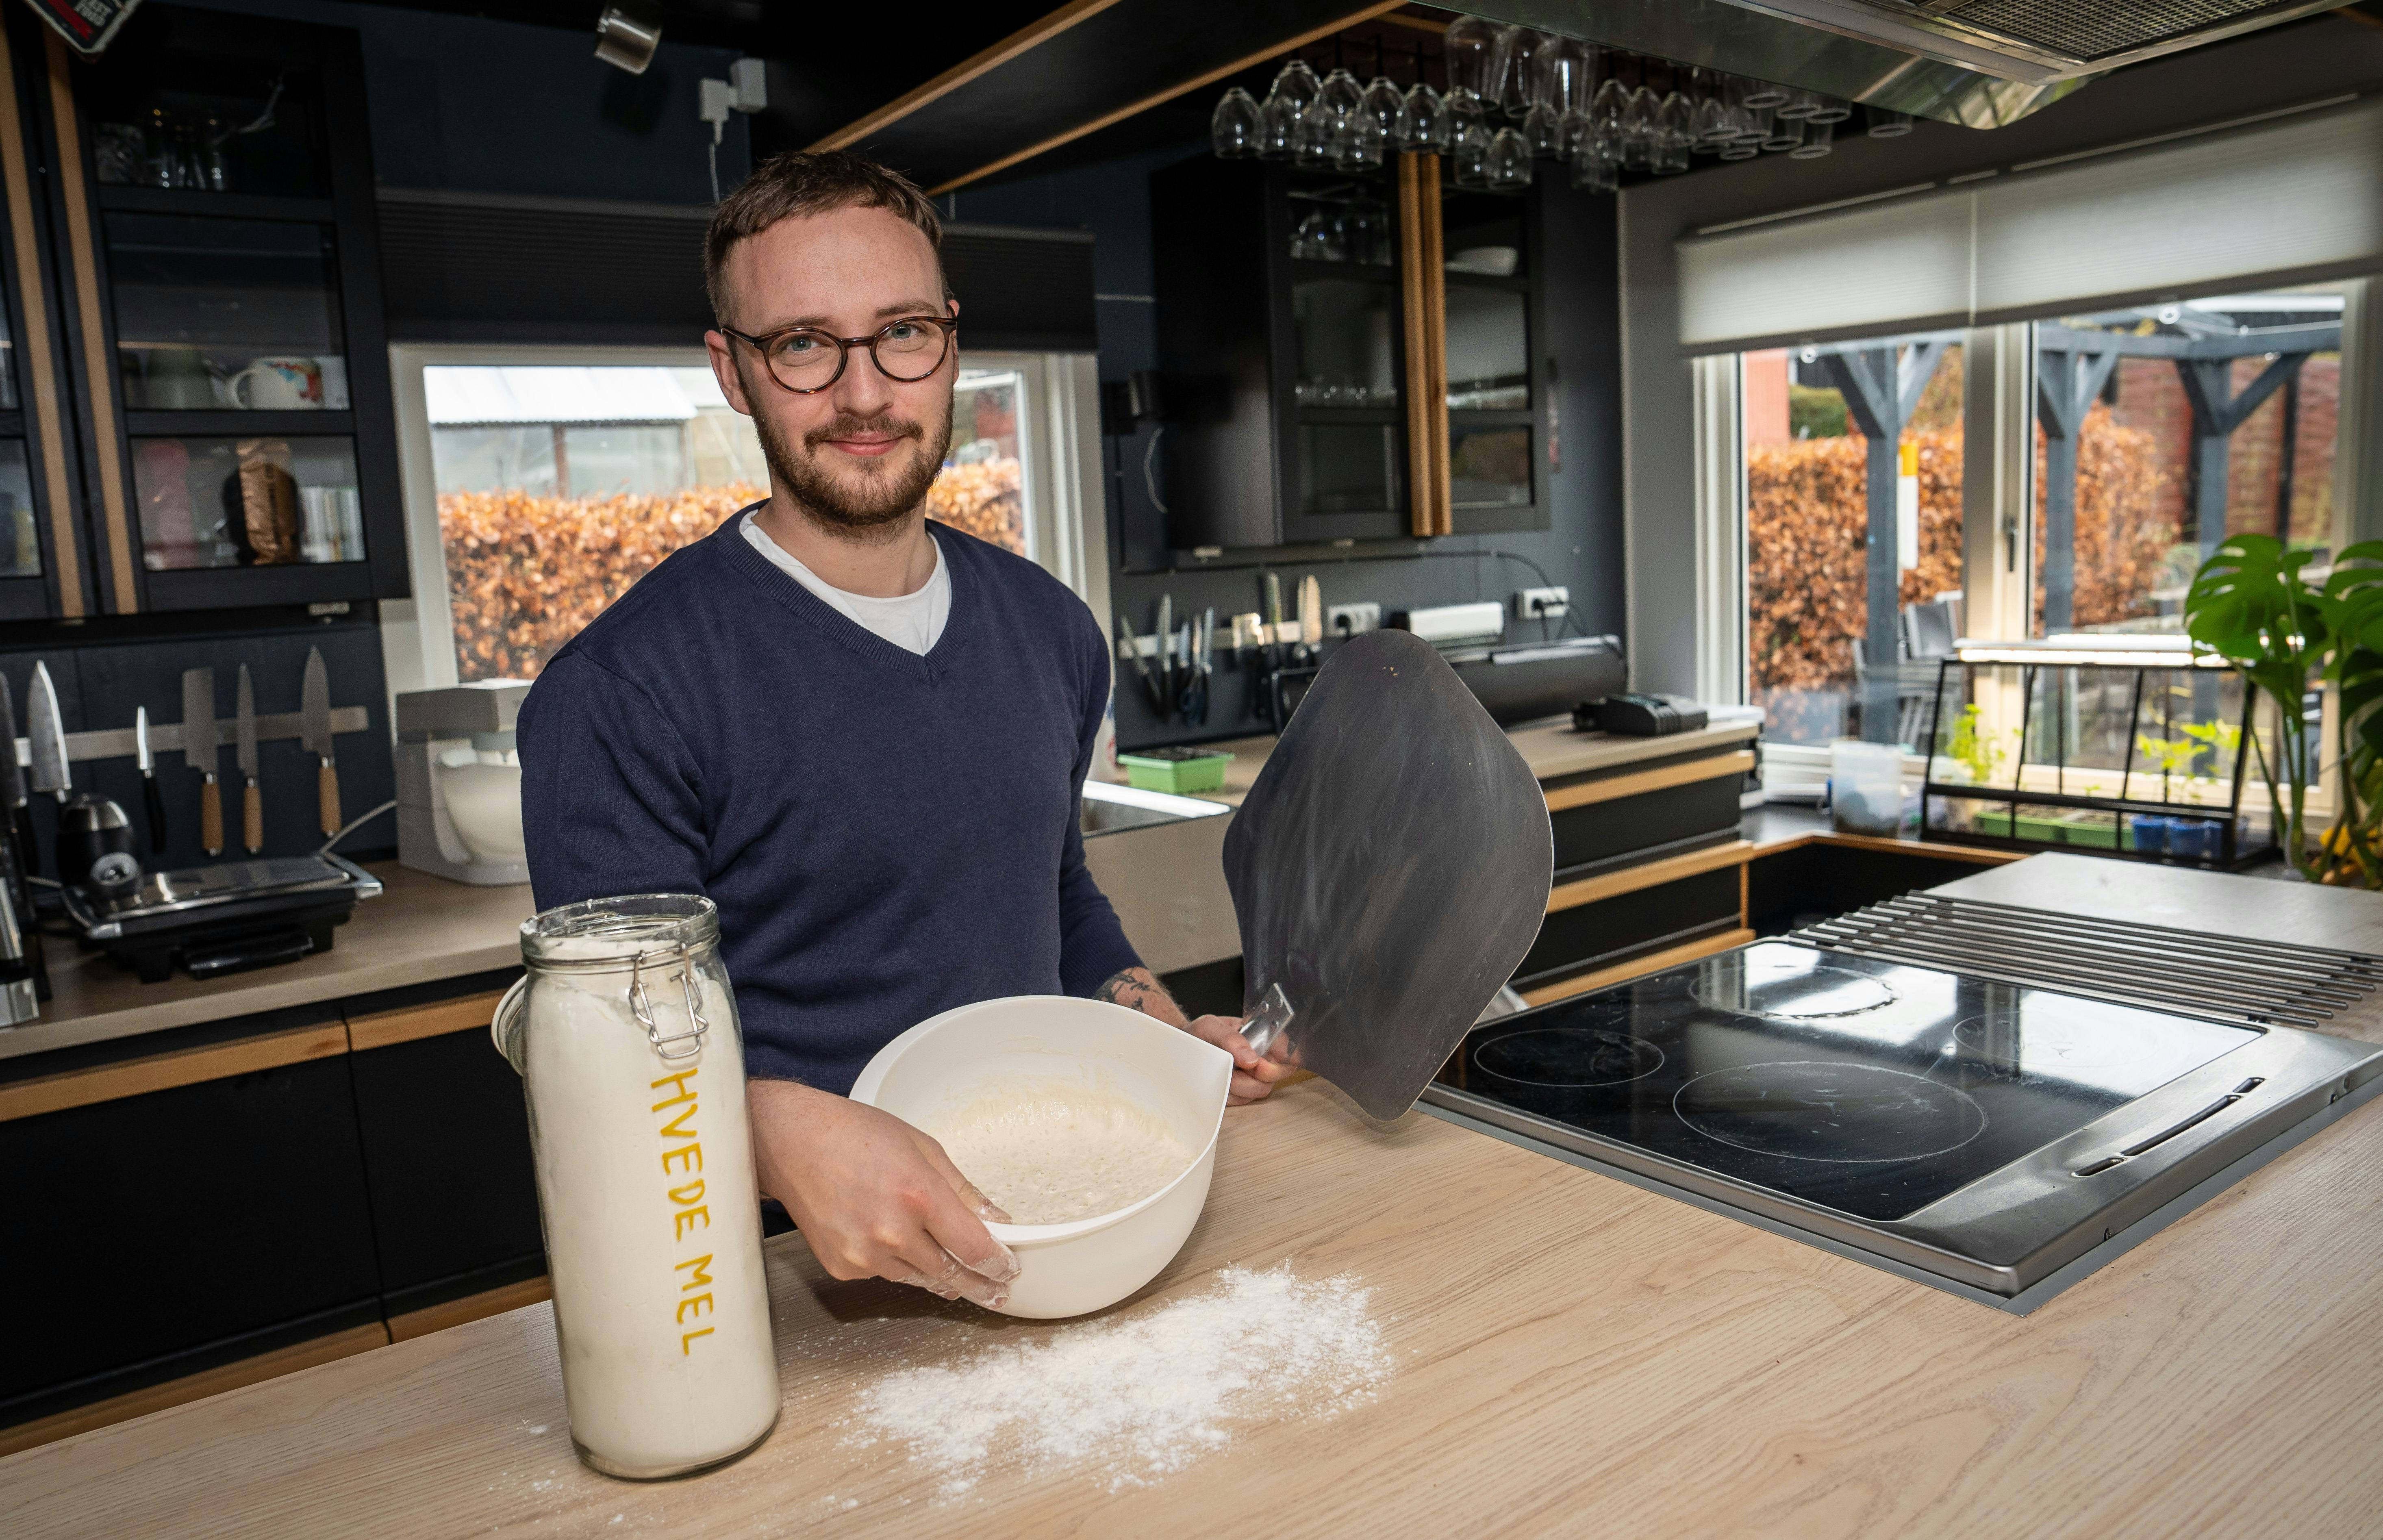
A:
{"label": "right glass pane of the right-hand window, behind the monstera plant", "polygon": [[2033,632],[2178,632],[2228,534],[2333,541],[2340,293],[2035,327]]}

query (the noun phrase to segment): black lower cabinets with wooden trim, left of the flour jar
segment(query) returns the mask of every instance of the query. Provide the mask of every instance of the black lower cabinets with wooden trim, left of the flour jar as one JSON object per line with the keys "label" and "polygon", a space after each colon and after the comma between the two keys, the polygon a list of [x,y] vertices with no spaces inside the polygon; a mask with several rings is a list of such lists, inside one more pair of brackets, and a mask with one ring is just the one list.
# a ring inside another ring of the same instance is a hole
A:
{"label": "black lower cabinets with wooden trim, left of the flour jar", "polygon": [[512,977],[0,1061],[0,1447],[543,1297]]}

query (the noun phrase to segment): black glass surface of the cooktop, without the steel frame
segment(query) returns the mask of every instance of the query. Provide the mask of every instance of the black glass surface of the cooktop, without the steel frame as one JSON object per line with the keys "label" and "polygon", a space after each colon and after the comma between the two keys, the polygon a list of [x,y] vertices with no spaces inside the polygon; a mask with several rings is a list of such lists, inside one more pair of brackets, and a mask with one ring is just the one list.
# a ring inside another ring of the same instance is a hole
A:
{"label": "black glass surface of the cooktop, without the steel frame", "polygon": [[1439,1080],[1840,1213],[1897,1221],[2257,1037],[1756,942],[1485,1023]]}

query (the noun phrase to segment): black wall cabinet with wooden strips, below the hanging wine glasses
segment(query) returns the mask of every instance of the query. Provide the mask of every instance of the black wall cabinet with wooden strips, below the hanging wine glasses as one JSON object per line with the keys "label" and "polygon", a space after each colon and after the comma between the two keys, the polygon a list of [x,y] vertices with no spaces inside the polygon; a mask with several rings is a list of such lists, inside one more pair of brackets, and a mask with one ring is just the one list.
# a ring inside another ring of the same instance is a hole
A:
{"label": "black wall cabinet with wooden strips, below the hanging wine glasses", "polygon": [[1539,193],[1192,160],[1151,176],[1168,529],[1544,529]]}

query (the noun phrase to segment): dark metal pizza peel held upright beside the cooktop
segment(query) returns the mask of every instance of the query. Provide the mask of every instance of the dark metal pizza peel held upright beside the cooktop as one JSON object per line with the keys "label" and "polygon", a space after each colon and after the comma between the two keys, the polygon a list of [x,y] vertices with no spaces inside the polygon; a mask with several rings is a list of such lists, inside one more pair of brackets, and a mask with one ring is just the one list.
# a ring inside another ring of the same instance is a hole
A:
{"label": "dark metal pizza peel held upright beside the cooktop", "polygon": [[1225,832],[1251,1047],[1396,1118],[1547,918],[1547,794],[1439,653],[1365,632]]}

